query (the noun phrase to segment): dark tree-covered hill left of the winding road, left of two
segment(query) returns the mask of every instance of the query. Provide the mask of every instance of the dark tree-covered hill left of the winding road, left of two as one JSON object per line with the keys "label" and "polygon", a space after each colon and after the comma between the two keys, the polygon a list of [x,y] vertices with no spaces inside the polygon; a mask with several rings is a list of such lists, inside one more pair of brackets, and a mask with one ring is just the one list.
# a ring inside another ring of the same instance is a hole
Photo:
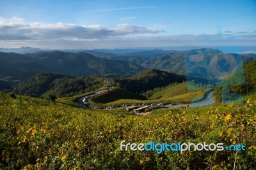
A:
{"label": "dark tree-covered hill left of the winding road, left of two", "polygon": [[104,80],[105,78],[99,76],[74,78],[61,74],[40,73],[19,83],[14,92],[29,96],[75,96],[99,89],[104,85]]}

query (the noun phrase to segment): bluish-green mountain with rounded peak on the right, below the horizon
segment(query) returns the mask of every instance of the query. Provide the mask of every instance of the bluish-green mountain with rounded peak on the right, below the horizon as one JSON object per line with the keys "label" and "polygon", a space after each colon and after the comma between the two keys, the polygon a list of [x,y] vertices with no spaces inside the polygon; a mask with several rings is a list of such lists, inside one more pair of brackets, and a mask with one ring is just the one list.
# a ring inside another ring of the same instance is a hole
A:
{"label": "bluish-green mountain with rounded peak on the right, below the horizon", "polygon": [[[214,55],[217,55],[218,53],[223,53],[220,50],[212,49],[212,48],[202,48],[202,49],[195,49],[195,50],[184,50],[184,51],[175,51],[175,50],[165,50],[165,51],[157,51],[158,54],[153,57],[151,55],[153,52],[151,51],[145,51],[144,54],[141,55],[132,55],[132,53],[129,53],[129,55],[99,55],[99,57],[104,57],[106,59],[116,59],[116,60],[127,60],[130,62],[134,62],[136,64],[139,64],[140,66],[143,66],[145,68],[150,69],[159,69],[163,71],[170,71],[177,74],[185,74],[185,65],[184,61],[188,63],[189,56],[193,55],[196,57],[196,55],[204,56],[204,60],[202,60],[199,64],[191,64],[191,67],[189,67],[189,71],[187,70],[186,73],[196,73],[196,74],[204,74],[205,69],[208,69],[209,63],[214,57]],[[137,52],[143,53],[143,52]],[[150,53],[150,56],[146,55],[147,53]],[[254,59],[256,59],[255,53],[248,53],[239,55],[236,53],[229,53],[228,55],[231,55],[235,59],[242,59],[243,63],[250,62]],[[241,61],[242,61],[241,60]],[[237,60],[237,62],[240,62]]]}

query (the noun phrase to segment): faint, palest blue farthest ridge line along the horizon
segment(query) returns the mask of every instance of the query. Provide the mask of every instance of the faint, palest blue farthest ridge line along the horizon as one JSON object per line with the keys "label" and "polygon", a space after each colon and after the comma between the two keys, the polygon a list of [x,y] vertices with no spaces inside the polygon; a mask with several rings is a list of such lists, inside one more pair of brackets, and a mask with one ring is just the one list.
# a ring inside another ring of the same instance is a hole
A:
{"label": "faint, palest blue farthest ridge line along the horizon", "polygon": [[[121,49],[94,49],[94,50],[86,50],[86,49],[63,49],[59,50],[61,52],[87,52],[91,53],[98,57],[99,55],[125,55],[125,56],[145,56],[150,57],[150,55],[160,55],[166,52],[174,52],[174,51],[184,51],[184,50],[193,50],[200,48],[214,48],[221,50],[221,52],[225,53],[256,53],[256,46],[157,46],[157,47],[143,47],[143,48],[121,48]],[[0,52],[14,52],[14,53],[34,53],[39,51],[51,51],[49,49],[42,48],[33,48],[29,46],[22,46],[20,48],[0,48]],[[146,56],[147,55],[147,56]]]}

